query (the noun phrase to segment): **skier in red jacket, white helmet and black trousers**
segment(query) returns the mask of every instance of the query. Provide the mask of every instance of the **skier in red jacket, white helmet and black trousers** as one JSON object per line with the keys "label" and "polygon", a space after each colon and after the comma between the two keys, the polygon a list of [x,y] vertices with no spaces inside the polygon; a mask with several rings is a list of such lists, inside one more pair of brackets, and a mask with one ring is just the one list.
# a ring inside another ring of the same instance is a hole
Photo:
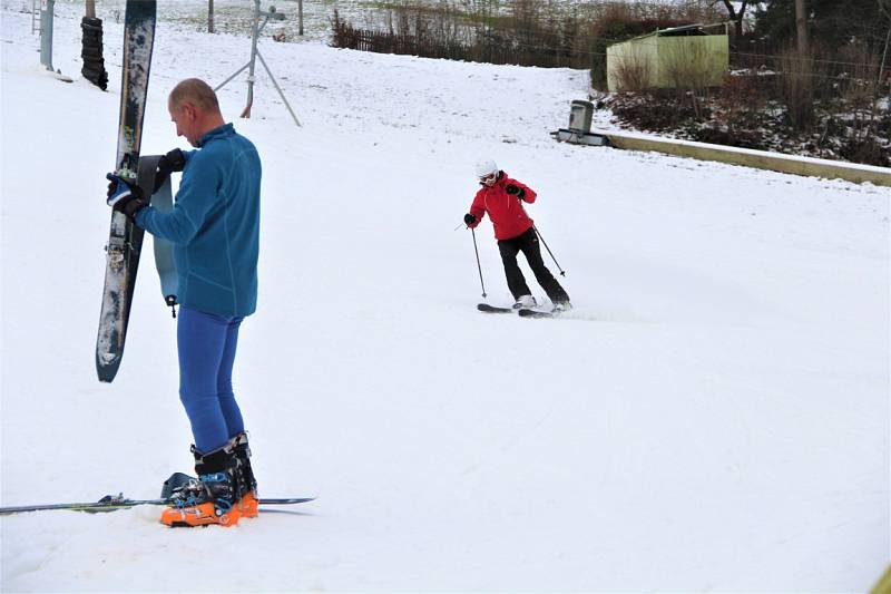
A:
{"label": "skier in red jacket, white helmet and black trousers", "polygon": [[508,177],[491,159],[477,164],[477,177],[482,187],[477,192],[470,212],[464,215],[464,224],[474,228],[480,224],[482,216],[489,214],[495,226],[501,261],[505,263],[508,288],[517,301],[513,306],[519,309],[536,305],[532,292],[529,291],[529,285],[526,284],[522,271],[517,264],[517,253],[522,252],[538,284],[554,303],[555,310],[569,309],[571,306],[569,295],[545,266],[535,223],[522,207],[523,202],[529,204],[536,202],[535,191]]}

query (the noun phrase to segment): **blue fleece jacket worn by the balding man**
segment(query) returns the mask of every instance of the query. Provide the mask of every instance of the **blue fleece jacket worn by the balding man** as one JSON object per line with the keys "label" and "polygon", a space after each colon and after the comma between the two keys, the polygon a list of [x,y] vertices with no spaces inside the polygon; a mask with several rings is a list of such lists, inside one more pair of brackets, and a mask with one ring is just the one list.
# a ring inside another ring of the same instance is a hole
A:
{"label": "blue fleece jacket worn by the balding man", "polygon": [[260,155],[232,124],[184,152],[174,210],[143,208],[136,224],[174,244],[179,303],[218,315],[249,315],[257,303]]}

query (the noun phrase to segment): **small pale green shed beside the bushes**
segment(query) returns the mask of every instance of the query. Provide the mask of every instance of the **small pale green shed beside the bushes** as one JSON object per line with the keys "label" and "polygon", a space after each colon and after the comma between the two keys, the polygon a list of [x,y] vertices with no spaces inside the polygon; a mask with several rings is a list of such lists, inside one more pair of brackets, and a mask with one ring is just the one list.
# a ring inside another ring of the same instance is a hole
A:
{"label": "small pale green shed beside the bushes", "polygon": [[730,42],[726,30],[723,35],[708,35],[707,28],[688,25],[657,29],[609,46],[606,49],[609,90],[721,85],[730,67]]}

